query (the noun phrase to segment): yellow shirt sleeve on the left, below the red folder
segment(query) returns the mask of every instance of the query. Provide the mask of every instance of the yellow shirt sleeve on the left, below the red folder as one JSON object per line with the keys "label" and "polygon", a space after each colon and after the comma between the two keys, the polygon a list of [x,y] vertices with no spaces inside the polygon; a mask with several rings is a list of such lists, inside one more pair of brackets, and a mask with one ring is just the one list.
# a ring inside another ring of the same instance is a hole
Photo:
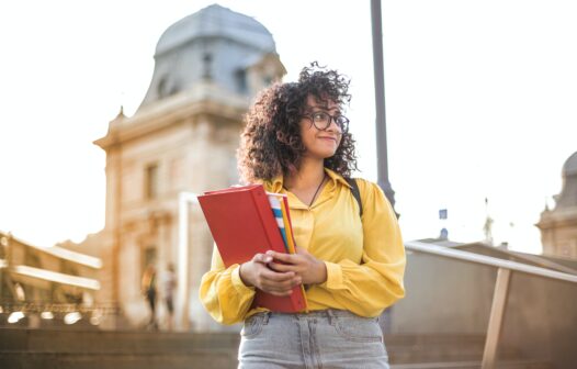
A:
{"label": "yellow shirt sleeve on the left, below the red folder", "polygon": [[216,247],[213,248],[211,270],[201,280],[200,299],[204,309],[220,324],[241,322],[249,311],[254,288],[240,279],[238,264],[226,268]]}

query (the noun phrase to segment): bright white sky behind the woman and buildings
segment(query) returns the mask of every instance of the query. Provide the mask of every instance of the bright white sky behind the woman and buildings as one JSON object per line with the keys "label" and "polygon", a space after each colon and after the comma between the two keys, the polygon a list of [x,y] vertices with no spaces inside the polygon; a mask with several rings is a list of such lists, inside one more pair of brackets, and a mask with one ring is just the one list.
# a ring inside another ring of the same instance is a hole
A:
{"label": "bright white sky behind the woman and buildings", "polygon": [[[134,114],[162,32],[213,1],[0,4],[0,230],[37,245],[104,225],[92,141]],[[319,60],[352,79],[361,176],[376,180],[370,1],[220,1],[273,34],[294,80]],[[539,221],[577,150],[577,2],[383,1],[389,177],[406,239],[442,226],[541,249]],[[449,210],[446,224],[439,209]]]}

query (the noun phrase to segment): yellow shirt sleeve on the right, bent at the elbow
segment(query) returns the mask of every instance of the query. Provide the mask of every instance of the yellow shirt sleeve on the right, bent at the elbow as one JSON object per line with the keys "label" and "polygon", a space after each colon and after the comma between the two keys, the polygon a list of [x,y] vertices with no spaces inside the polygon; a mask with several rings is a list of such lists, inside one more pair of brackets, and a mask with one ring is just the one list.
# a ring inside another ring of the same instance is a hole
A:
{"label": "yellow shirt sleeve on the right, bent at the elbow", "polygon": [[396,214],[381,188],[365,180],[358,183],[363,205],[362,261],[325,261],[327,281],[320,287],[344,309],[377,316],[405,295],[405,246]]}

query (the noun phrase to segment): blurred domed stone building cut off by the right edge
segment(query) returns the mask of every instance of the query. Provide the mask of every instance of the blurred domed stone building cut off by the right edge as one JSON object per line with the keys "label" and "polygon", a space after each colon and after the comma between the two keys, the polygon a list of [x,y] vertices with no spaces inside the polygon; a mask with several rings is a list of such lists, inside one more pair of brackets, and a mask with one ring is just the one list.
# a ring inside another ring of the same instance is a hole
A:
{"label": "blurred domed stone building cut off by the right edge", "polygon": [[536,226],[543,254],[577,258],[577,152],[563,166],[563,188],[555,209],[546,208]]}

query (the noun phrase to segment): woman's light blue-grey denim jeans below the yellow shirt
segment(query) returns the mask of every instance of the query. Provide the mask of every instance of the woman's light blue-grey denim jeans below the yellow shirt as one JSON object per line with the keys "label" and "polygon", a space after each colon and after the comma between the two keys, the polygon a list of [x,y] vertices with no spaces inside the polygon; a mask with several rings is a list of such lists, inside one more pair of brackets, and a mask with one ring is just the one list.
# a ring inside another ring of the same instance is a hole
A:
{"label": "woman's light blue-grey denim jeans below the yellow shirt", "polygon": [[348,311],[259,313],[245,321],[240,335],[241,369],[388,369],[377,318]]}

